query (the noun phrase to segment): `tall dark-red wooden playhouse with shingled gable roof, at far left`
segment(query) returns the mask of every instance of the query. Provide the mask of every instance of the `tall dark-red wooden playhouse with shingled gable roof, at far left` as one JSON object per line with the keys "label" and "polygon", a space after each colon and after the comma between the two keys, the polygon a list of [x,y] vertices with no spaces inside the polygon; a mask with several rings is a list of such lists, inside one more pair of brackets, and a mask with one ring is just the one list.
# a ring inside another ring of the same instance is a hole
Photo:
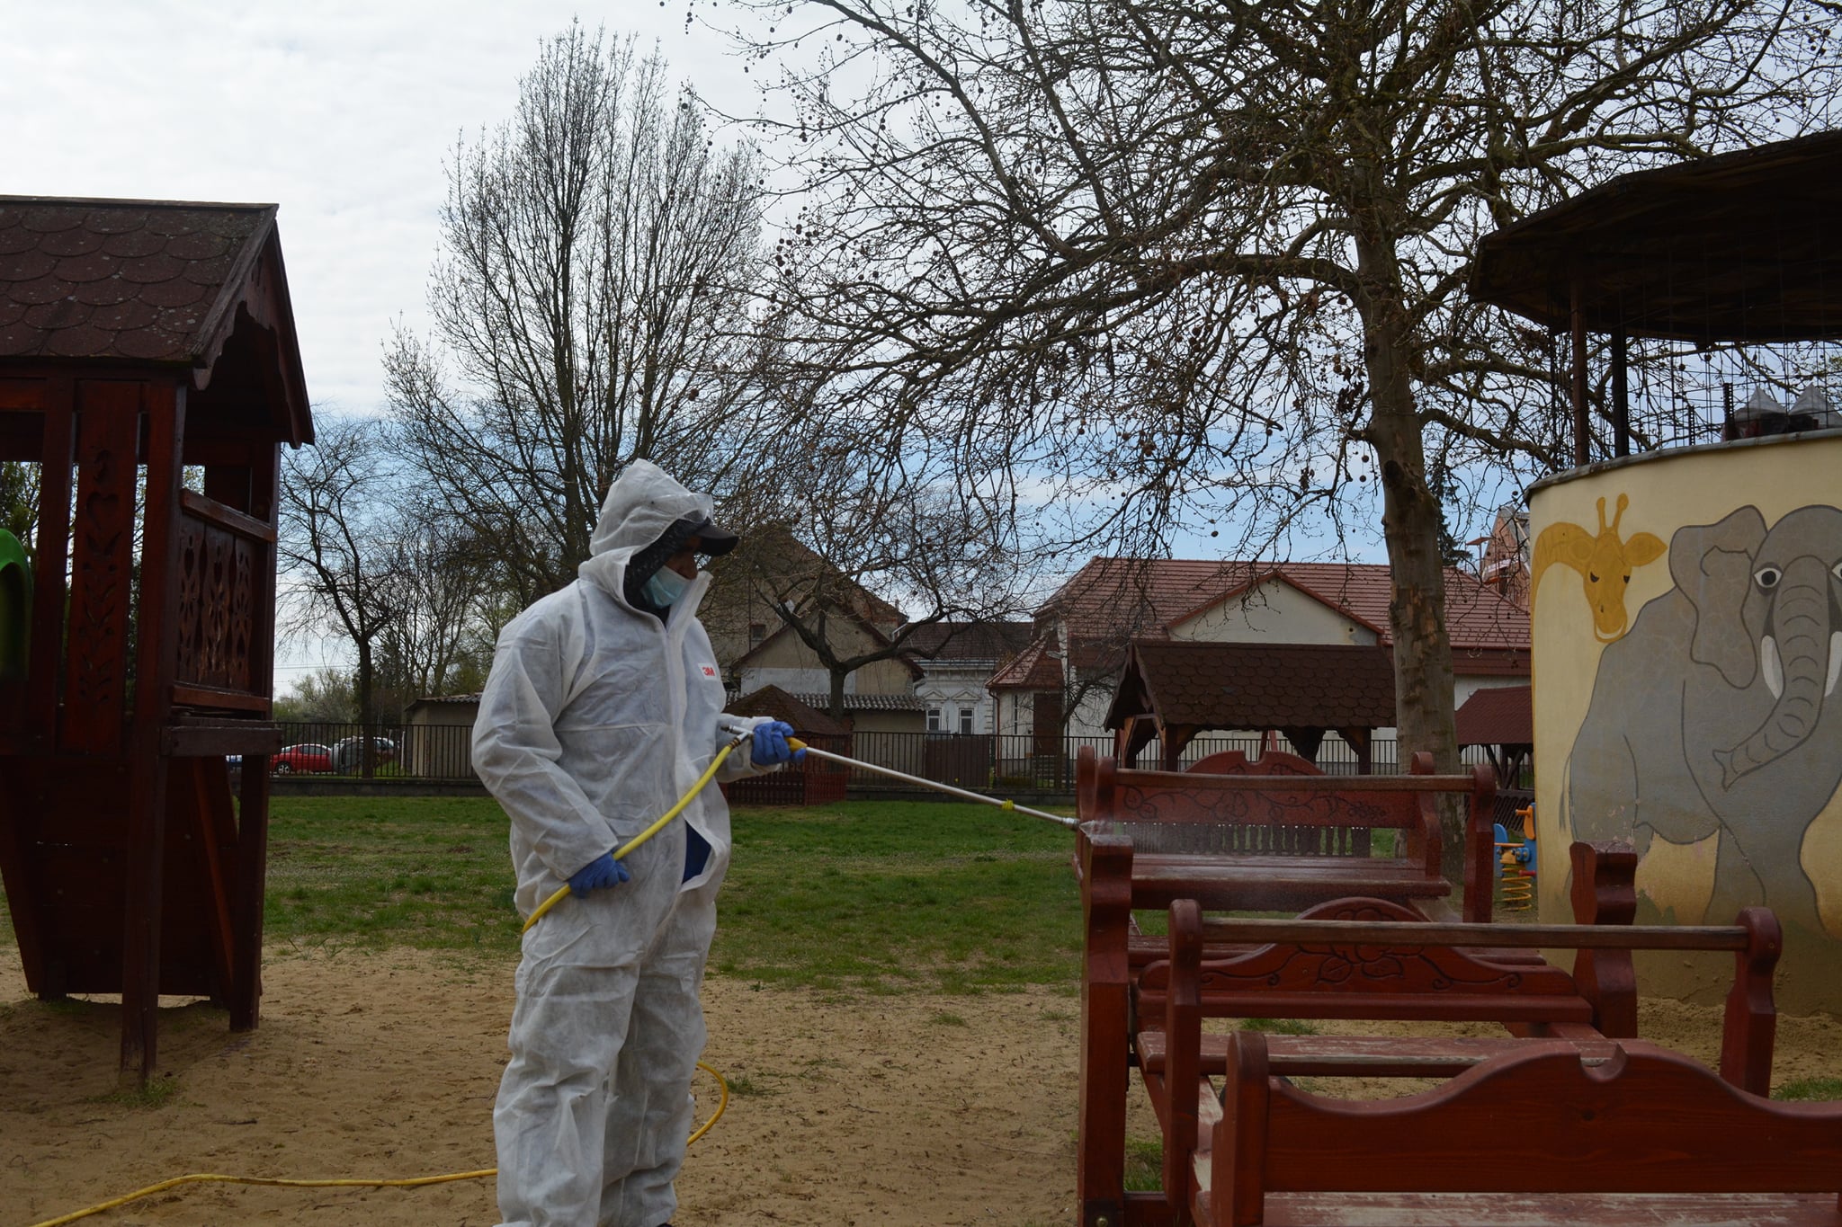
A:
{"label": "tall dark-red wooden playhouse with shingled gable roof, at far left", "polygon": [[262,993],[280,445],[313,438],[274,215],[0,197],[0,460],[41,484],[0,874],[31,990],[122,993],[140,1078],[160,993],[238,1030]]}

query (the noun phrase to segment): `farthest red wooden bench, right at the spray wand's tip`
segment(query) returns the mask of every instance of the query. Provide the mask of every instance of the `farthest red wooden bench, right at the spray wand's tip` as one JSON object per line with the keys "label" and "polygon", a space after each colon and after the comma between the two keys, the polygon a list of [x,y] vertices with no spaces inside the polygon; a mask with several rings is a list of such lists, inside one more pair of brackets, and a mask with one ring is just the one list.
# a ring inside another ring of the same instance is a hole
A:
{"label": "farthest red wooden bench, right at the spray wand's tip", "polygon": [[[1486,922],[1496,780],[1488,767],[1431,771],[1426,754],[1405,776],[1137,771],[1081,747],[1076,802],[1081,839],[1131,841],[1137,907],[1201,900],[1210,909],[1295,912],[1367,896],[1450,914],[1439,802],[1455,797],[1466,804],[1463,918]],[[1394,833],[1391,855],[1370,855],[1378,830]]]}

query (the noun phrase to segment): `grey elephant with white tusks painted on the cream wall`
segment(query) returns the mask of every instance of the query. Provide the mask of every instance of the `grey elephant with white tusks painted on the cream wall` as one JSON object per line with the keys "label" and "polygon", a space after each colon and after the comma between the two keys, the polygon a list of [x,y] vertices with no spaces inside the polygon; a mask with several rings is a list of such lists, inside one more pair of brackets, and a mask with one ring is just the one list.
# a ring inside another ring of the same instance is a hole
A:
{"label": "grey elephant with white tusks painted on the cream wall", "polygon": [[1575,839],[1641,854],[1719,833],[1709,920],[1766,903],[1822,933],[1800,852],[1842,786],[1842,510],[1680,528],[1669,572],[1599,659],[1568,765]]}

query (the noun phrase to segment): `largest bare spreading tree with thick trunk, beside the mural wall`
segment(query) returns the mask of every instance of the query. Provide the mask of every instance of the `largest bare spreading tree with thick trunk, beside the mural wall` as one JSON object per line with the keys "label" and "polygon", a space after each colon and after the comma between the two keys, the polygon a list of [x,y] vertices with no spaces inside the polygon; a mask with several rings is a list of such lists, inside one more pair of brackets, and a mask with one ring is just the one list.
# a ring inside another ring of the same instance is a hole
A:
{"label": "largest bare spreading tree with thick trunk, beside the mural wall", "polygon": [[1446,769],[1440,502],[1568,462],[1551,338],[1464,296],[1479,235],[1820,127],[1842,63],[1801,0],[735,2],[805,175],[814,416],[949,445],[1070,550],[1380,511],[1400,738]]}

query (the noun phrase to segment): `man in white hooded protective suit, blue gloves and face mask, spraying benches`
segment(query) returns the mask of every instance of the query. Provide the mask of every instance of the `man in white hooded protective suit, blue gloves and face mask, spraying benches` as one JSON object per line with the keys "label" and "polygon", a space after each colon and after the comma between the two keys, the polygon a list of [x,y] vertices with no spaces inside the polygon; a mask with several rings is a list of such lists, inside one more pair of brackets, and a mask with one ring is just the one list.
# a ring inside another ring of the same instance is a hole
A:
{"label": "man in white hooded protective suit, blue gloves and face mask, spraying benches", "polygon": [[[683,820],[623,861],[612,852],[729,740],[696,554],[733,546],[707,495],[634,462],[577,579],[499,635],[473,767],[512,820],[519,914],[565,883],[573,894],[525,933],[518,964],[492,1113],[505,1227],[661,1227],[676,1210],[729,809],[707,786]],[[794,756],[790,725],[726,721],[752,736],[718,780]]]}

